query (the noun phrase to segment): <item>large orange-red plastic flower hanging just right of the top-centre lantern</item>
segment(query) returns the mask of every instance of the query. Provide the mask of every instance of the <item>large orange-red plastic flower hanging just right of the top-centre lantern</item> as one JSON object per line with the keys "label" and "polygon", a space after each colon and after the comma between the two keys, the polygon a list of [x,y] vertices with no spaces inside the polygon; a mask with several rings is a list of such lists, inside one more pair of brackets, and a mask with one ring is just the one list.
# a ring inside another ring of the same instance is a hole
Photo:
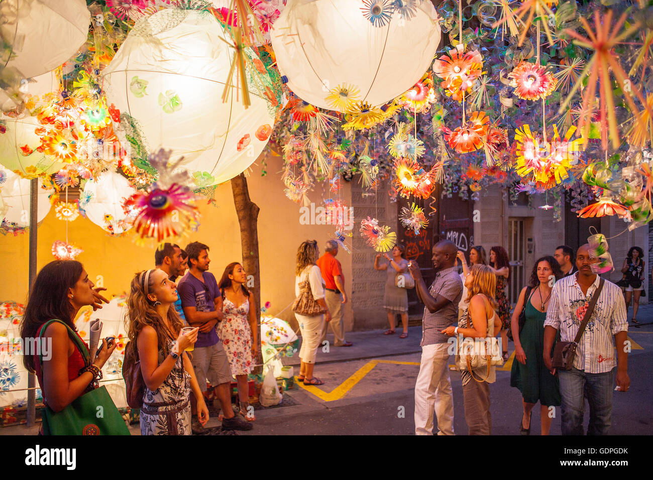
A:
{"label": "large orange-red plastic flower hanging just right of the top-centre lantern", "polygon": [[483,74],[483,57],[477,50],[464,53],[462,44],[449,50],[449,55],[443,55],[433,62],[433,71],[444,79],[442,88],[445,93],[456,101],[462,101],[463,94]]}

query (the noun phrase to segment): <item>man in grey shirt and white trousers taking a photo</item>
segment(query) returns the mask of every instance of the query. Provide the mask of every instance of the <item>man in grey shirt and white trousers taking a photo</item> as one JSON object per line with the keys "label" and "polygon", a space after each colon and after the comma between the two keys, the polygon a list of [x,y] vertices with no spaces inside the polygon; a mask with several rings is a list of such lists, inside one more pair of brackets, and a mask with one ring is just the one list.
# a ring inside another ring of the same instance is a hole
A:
{"label": "man in grey shirt and white trousers taking a photo", "polygon": [[415,262],[408,270],[415,279],[417,297],[424,304],[422,319],[422,359],[415,383],[415,434],[433,434],[433,412],[438,419],[438,435],[453,435],[453,391],[449,378],[449,337],[441,332],[458,319],[462,280],[456,269],[458,249],[449,240],[433,247],[436,280],[430,289]]}

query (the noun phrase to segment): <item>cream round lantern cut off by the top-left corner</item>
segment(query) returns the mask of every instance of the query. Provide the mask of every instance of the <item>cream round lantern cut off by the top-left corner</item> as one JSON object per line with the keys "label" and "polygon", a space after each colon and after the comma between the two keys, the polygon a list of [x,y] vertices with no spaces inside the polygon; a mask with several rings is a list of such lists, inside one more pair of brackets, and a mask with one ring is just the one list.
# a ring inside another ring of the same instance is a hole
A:
{"label": "cream round lantern cut off by the top-left corner", "polygon": [[12,52],[6,66],[30,78],[76,54],[86,42],[91,14],[84,0],[3,0],[0,18],[0,36]]}

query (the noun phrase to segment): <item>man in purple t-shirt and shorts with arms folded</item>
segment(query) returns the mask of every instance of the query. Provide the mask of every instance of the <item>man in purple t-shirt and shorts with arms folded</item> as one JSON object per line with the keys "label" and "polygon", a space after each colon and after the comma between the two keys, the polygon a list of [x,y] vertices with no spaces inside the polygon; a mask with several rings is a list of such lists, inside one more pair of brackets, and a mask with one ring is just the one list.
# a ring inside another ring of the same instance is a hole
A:
{"label": "man in purple t-shirt and shorts with arms folded", "polygon": [[[199,327],[197,342],[193,350],[193,369],[200,388],[211,384],[225,415],[222,427],[225,430],[251,430],[252,424],[238,418],[231,408],[231,370],[229,360],[217,336],[215,325],[224,317],[222,313],[222,296],[213,274],[207,272],[210,259],[208,246],[193,242],[185,248],[188,255],[188,272],[177,284],[177,291],[182,298],[183,313],[191,327]],[[208,389],[204,391],[208,398]],[[191,402],[195,406],[195,402]],[[204,428],[197,420],[197,411],[193,409],[191,427],[194,433],[202,433]]]}

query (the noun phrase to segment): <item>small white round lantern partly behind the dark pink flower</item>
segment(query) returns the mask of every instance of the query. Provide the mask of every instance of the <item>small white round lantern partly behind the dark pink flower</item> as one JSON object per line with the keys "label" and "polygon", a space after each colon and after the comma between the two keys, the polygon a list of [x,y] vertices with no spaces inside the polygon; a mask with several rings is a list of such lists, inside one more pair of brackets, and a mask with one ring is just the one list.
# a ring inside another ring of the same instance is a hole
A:
{"label": "small white round lantern partly behind the dark pink flower", "polygon": [[84,209],[90,221],[105,232],[121,234],[131,229],[131,222],[122,208],[123,201],[136,193],[127,178],[118,172],[108,170],[84,185],[80,195],[80,208]]}

